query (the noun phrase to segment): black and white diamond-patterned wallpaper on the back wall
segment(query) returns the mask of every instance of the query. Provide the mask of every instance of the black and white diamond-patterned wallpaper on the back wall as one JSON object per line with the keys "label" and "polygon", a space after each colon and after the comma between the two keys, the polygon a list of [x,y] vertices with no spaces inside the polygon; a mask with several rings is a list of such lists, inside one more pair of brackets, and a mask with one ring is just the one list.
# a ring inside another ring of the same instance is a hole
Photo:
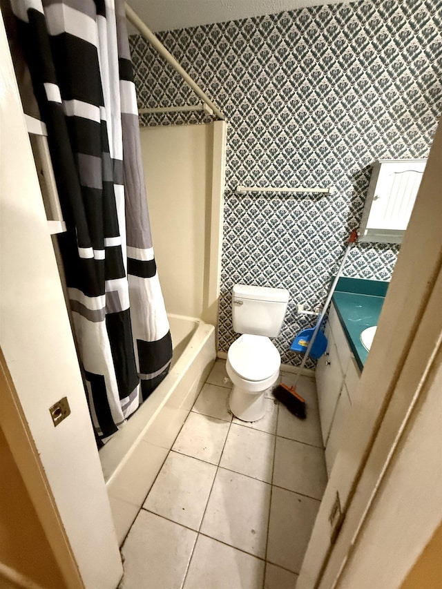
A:
{"label": "black and white diamond-patterned wallpaper on the back wall", "polygon": [[[311,326],[296,304],[325,299],[358,225],[370,164],[426,157],[442,110],[439,0],[361,0],[158,35],[229,122],[220,349],[236,282],[286,287],[282,362]],[[180,77],[131,37],[139,104],[196,104]],[[143,115],[142,124],[204,122],[200,113]],[[334,186],[332,195],[238,195],[238,184]],[[345,276],[389,280],[394,244],[358,244]]]}

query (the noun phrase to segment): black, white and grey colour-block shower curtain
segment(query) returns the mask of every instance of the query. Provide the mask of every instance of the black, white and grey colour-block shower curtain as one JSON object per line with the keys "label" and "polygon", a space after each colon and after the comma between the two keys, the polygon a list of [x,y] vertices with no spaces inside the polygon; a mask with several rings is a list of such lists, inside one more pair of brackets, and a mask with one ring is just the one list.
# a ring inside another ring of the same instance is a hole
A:
{"label": "black, white and grey colour-block shower curtain", "polygon": [[122,0],[11,0],[67,231],[59,237],[90,414],[106,441],[169,371]]}

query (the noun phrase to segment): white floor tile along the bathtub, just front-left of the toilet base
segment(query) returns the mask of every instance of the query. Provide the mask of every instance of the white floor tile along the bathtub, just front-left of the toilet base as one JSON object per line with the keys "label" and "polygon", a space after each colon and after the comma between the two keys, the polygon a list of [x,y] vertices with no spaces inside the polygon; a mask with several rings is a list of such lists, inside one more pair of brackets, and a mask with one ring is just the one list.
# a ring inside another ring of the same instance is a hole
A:
{"label": "white floor tile along the bathtub, just front-left of the toilet base", "polygon": [[172,450],[218,464],[230,423],[191,412]]}

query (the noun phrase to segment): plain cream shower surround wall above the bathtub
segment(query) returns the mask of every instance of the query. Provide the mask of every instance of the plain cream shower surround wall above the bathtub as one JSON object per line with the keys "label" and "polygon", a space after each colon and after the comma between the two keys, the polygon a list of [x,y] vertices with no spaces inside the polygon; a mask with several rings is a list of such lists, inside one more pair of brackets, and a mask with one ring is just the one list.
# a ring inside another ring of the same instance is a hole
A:
{"label": "plain cream shower surround wall above the bathtub", "polygon": [[146,126],[140,135],[167,312],[205,318],[213,125]]}

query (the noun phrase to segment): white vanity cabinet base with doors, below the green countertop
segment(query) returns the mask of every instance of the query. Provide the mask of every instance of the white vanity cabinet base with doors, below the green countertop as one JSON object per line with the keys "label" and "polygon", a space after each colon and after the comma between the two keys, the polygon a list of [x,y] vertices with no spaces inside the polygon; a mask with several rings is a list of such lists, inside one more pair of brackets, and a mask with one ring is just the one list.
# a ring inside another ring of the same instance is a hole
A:
{"label": "white vanity cabinet base with doors, below the green countertop", "polygon": [[325,462],[330,474],[345,421],[351,418],[361,372],[352,356],[347,338],[333,305],[325,328],[327,349],[316,366],[316,389]]}

